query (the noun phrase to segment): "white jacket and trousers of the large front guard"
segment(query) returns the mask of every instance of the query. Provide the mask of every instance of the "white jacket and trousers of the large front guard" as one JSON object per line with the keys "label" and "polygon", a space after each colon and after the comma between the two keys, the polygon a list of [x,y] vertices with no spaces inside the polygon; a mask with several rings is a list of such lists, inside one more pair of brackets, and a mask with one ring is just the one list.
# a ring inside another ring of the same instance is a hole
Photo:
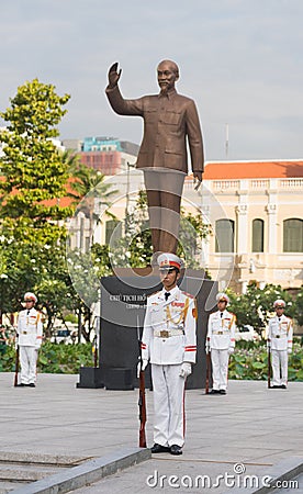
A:
{"label": "white jacket and trousers of the large front guard", "polygon": [[184,444],[184,378],[182,362],[195,362],[195,299],[175,287],[147,299],[142,357],[150,360],[154,388],[154,440],[170,447]]}

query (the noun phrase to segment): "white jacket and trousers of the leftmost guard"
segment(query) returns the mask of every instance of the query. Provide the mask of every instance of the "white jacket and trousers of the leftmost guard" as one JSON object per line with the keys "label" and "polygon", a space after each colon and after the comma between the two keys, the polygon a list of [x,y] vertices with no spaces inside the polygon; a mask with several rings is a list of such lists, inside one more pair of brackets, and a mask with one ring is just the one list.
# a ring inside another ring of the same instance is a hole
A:
{"label": "white jacket and trousers of the leftmost guard", "polygon": [[42,314],[34,307],[21,311],[18,318],[18,345],[20,348],[21,383],[36,381],[37,350],[42,344]]}

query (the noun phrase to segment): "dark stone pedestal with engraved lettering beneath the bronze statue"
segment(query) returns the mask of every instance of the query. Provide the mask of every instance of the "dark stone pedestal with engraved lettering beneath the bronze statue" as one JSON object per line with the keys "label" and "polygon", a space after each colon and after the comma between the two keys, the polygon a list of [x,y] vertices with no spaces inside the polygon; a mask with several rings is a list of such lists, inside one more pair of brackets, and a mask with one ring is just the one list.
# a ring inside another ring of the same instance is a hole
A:
{"label": "dark stone pedestal with engraved lettering beneath the bronze statue", "polygon": [[[180,289],[193,294],[198,302],[197,364],[188,378],[187,389],[205,386],[205,337],[209,314],[216,304],[217,283],[203,277],[202,270],[187,270],[179,283]],[[138,386],[138,339],[143,332],[146,299],[158,290],[161,290],[161,283],[155,269],[120,269],[116,276],[101,279],[99,367],[106,389],[132,390]],[[145,374],[146,388],[152,388],[149,366]],[[80,375],[78,388],[92,388],[82,384]]]}

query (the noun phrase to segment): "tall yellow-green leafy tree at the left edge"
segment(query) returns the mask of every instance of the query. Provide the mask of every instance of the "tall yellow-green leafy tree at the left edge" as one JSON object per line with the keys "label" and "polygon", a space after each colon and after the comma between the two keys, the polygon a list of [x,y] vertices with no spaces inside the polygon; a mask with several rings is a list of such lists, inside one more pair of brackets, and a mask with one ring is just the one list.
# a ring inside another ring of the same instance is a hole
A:
{"label": "tall yellow-green leafy tree at the left edge", "polygon": [[[0,133],[4,144],[0,160],[0,240],[7,276],[1,293],[7,311],[20,308],[26,290],[38,294],[42,287],[41,303],[47,306],[58,287],[68,289],[70,284],[63,221],[72,209],[60,204],[69,169],[52,141],[58,135],[56,125],[66,113],[68,100],[69,96],[59,97],[53,85],[34,79],[19,87],[11,106],[0,113],[9,123]],[[60,300],[64,303],[63,293]]]}

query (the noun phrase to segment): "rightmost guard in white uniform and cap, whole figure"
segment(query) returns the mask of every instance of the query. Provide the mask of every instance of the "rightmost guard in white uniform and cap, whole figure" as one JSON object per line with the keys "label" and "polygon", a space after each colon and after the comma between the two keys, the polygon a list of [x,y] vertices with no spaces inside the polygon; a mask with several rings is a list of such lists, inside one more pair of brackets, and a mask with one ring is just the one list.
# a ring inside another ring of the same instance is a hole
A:
{"label": "rightmost guard in white uniform and cap, whole figure", "polygon": [[[273,302],[276,316],[269,319],[268,346],[271,351],[272,386],[285,390],[288,386],[288,353],[292,352],[292,319],[284,315],[285,302]],[[280,374],[281,370],[281,374]]]}

